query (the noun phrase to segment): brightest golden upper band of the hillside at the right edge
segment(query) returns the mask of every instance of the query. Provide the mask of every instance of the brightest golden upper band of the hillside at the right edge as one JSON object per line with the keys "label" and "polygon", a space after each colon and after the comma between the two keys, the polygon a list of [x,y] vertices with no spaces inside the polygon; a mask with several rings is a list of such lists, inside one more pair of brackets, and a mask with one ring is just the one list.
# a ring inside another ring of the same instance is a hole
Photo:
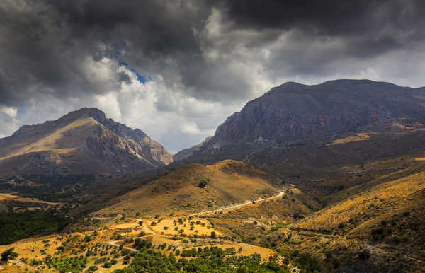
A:
{"label": "brightest golden upper band of the hillside at the right edge", "polygon": [[[410,173],[412,170],[414,173]],[[398,178],[399,176],[401,178]],[[396,179],[390,180],[392,177]],[[312,214],[295,227],[331,233],[338,230],[341,223],[343,226],[346,223],[348,228],[352,229],[350,234],[356,233],[356,230],[365,226],[368,221],[383,220],[387,214],[405,211],[414,203],[417,205],[415,201],[419,200],[416,200],[416,197],[419,197],[425,189],[424,179],[425,165],[422,164],[352,187],[344,191],[346,199]],[[382,180],[390,181],[382,182]],[[368,188],[368,185],[371,187]],[[365,190],[353,195],[348,194],[357,192],[358,188]]]}

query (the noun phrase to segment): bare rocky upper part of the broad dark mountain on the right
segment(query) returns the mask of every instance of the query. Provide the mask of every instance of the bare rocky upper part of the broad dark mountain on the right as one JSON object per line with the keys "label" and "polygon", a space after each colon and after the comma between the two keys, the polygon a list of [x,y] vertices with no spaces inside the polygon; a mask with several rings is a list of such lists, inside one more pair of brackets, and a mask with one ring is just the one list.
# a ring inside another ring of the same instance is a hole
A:
{"label": "bare rocky upper part of the broad dark mountain on the right", "polygon": [[[246,103],[194,153],[328,143],[342,134],[363,132],[396,118],[425,120],[423,88],[369,80],[312,86],[288,82]],[[185,150],[176,158],[191,155]]]}

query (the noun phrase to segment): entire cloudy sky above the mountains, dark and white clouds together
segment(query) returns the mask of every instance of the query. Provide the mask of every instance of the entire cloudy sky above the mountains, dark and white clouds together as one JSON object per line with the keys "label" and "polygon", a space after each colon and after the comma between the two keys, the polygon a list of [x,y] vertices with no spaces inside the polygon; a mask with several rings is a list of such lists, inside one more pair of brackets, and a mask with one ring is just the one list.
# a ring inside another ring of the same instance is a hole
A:
{"label": "entire cloudy sky above the mountains, dark and white clouds together", "polygon": [[0,1],[0,137],[96,107],[172,153],[286,81],[425,86],[425,1]]}

